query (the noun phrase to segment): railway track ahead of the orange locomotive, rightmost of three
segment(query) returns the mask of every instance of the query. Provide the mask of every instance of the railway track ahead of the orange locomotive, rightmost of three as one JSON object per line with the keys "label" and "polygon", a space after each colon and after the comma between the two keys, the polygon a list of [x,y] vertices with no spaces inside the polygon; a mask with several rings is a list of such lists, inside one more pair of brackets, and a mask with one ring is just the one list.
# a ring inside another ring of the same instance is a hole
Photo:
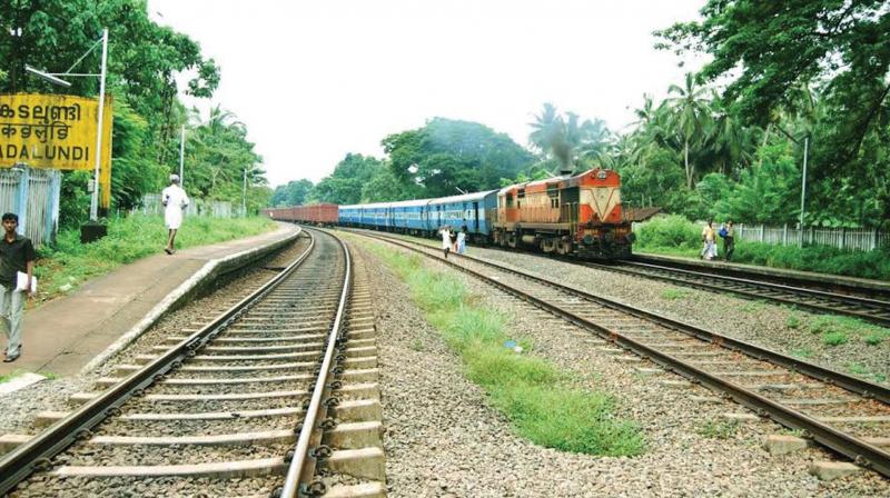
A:
{"label": "railway track ahead of the orange locomotive, rightmost of three", "polygon": [[621,261],[615,265],[580,262],[586,267],[604,271],[615,271],[634,277],[661,280],[675,285],[729,292],[748,299],[762,299],[781,305],[794,306],[808,311],[830,315],[844,315],[864,321],[890,327],[890,298],[872,297],[866,289],[846,288],[831,291],[804,287],[804,282],[784,285],[763,280],[762,276],[734,270],[735,275],[691,270],[664,262]]}

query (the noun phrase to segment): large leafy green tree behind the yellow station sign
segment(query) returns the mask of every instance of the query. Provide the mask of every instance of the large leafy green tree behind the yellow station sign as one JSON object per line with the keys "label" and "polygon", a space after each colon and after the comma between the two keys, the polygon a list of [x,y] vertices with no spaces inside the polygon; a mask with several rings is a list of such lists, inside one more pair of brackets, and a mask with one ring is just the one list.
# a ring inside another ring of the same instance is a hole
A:
{"label": "large leafy green tree behind the yellow station sign", "polygon": [[[109,29],[109,94],[116,99],[111,182],[112,202],[129,209],[161,187],[165,170],[178,162],[177,77],[194,71],[188,93],[210,97],[219,70],[198,44],[148,18],[146,0],[0,0],[0,92],[59,92],[29,77],[24,64],[66,72]],[[101,50],[92,50],[72,72],[96,72]],[[73,78],[66,93],[95,96],[95,78]],[[63,177],[60,221],[79,222],[89,202],[83,175]]]}

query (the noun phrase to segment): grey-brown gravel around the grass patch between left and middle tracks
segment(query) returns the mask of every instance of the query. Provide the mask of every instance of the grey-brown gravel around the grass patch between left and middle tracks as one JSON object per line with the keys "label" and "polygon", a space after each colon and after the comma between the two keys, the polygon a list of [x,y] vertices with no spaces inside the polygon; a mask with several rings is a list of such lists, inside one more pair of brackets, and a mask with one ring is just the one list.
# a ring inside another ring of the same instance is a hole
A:
{"label": "grey-brown gravel around the grass patch between left and middle tracks", "polygon": [[[373,259],[364,250],[356,253]],[[463,377],[461,360],[411,303],[405,286],[377,265],[367,268],[383,310],[378,347],[390,497],[890,496],[888,480],[872,472],[820,482],[807,464],[828,458],[822,450],[770,457],[760,441],[780,432],[779,426],[724,422],[722,414],[742,409],[693,401],[691,396],[710,391],[669,388],[661,381],[676,377],[643,375],[636,368],[652,365],[615,361],[585,343],[586,332],[467,282],[515,317],[515,338],[530,339],[533,355],[613,394],[617,415],[640,424],[647,449],[635,458],[592,457],[522,440]]]}

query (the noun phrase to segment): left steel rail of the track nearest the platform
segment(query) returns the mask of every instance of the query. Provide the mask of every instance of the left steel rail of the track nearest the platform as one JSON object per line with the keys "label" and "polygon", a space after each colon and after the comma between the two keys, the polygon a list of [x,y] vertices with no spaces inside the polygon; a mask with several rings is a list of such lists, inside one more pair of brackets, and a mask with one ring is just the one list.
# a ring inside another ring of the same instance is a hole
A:
{"label": "left steel rail of the track nearest the platform", "polygon": [[9,492],[33,471],[50,468],[50,458],[72,442],[89,438],[91,428],[118,412],[120,406],[138,391],[158,380],[162,380],[167,372],[178,368],[186,358],[192,356],[197,349],[215,338],[220,330],[231,325],[251,306],[273,291],[284,279],[299,268],[315,249],[315,238],[310,233],[309,238],[309,247],[306,248],[300,257],[284,271],[269,279],[263,287],[220,313],[210,323],[201,327],[200,330],[170,347],[157,359],[29,439],[28,442],[19,446],[0,460],[0,496]]}

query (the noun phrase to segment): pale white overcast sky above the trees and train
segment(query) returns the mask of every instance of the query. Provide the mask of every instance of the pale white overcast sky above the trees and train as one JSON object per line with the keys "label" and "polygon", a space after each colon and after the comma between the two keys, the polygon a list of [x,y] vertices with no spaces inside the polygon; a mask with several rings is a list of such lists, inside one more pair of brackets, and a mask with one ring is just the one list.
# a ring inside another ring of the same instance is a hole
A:
{"label": "pale white overcast sky above the trees and train", "polygon": [[544,102],[611,129],[643,93],[698,69],[652,31],[704,0],[150,0],[198,41],[221,82],[211,101],[247,124],[273,186],[329,175],[347,152],[433,117],[482,122],[527,143]]}

